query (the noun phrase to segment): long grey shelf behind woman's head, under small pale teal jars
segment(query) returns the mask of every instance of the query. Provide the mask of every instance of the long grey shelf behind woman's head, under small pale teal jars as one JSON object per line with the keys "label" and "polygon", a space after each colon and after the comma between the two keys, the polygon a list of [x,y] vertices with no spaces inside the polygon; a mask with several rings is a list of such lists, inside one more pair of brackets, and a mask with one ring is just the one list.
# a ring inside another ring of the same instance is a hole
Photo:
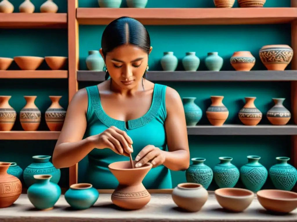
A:
{"label": "long grey shelf behind woman's head, under small pale teal jars", "polygon": [[[149,71],[150,81],[297,81],[297,70],[285,71]],[[78,81],[105,81],[105,72],[77,71]]]}

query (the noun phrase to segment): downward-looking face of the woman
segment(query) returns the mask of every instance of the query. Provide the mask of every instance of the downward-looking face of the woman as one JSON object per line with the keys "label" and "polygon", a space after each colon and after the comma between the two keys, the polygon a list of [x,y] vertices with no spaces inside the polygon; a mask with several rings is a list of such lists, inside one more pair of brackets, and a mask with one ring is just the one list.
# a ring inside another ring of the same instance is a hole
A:
{"label": "downward-looking face of the woman", "polygon": [[[102,55],[102,49],[100,53]],[[105,64],[112,81],[120,88],[132,89],[142,80],[148,65],[148,54],[135,45],[126,44],[107,53]]]}

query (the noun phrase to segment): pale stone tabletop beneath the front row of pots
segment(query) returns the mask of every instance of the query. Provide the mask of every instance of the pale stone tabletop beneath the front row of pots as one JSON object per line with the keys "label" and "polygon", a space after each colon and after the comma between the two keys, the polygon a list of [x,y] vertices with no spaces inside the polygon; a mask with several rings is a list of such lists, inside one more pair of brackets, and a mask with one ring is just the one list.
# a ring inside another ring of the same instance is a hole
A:
{"label": "pale stone tabletop beneath the front row of pots", "polygon": [[200,221],[200,222],[235,222],[235,221],[278,221],[296,222],[297,209],[287,215],[272,215],[260,205],[257,198],[241,213],[225,212],[210,194],[208,201],[199,212],[188,213],[176,207],[171,194],[151,194],[151,201],[140,210],[123,210],[110,200],[111,194],[100,194],[93,207],[86,210],[72,210],[61,195],[53,210],[39,211],[34,208],[26,194],[10,207],[0,208],[0,221],[12,222],[142,222],[142,221]]}

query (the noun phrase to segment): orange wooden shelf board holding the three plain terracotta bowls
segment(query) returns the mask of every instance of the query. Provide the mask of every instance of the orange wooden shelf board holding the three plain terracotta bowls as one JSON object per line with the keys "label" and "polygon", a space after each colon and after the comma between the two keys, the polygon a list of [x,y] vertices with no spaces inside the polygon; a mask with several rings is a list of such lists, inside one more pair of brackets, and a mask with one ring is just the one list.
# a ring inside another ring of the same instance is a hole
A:
{"label": "orange wooden shelf board holding the three plain terracotta bowls", "polygon": [[0,70],[0,79],[67,79],[67,70]]}

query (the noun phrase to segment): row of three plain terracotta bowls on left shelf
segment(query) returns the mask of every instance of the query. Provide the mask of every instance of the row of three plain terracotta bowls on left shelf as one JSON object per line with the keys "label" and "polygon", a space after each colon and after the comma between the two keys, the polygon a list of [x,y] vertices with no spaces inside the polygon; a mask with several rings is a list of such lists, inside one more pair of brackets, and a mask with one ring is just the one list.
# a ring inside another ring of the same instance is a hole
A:
{"label": "row of three plain terracotta bowls on left shelf", "polygon": [[0,57],[0,70],[7,70],[13,60],[21,70],[36,70],[43,60],[52,70],[64,69],[67,63],[67,57],[64,56],[15,56],[13,59]]}

